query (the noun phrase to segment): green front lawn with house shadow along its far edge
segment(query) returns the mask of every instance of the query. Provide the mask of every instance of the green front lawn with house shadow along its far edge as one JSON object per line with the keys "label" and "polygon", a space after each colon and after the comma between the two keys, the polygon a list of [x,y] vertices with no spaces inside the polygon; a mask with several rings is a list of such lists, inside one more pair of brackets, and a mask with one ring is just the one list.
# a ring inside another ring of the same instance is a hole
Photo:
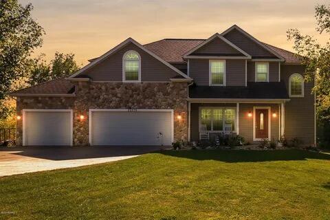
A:
{"label": "green front lawn with house shadow along its far edge", "polygon": [[330,219],[330,155],[162,151],[0,178],[2,219]]}

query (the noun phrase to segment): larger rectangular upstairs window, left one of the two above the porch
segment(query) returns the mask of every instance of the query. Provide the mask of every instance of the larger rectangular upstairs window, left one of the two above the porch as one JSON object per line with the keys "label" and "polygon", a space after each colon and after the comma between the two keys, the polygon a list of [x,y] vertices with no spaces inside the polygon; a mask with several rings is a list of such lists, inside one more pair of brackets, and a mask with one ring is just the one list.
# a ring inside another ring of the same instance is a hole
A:
{"label": "larger rectangular upstairs window, left one of the two above the porch", "polygon": [[225,85],[225,61],[210,61],[209,85]]}

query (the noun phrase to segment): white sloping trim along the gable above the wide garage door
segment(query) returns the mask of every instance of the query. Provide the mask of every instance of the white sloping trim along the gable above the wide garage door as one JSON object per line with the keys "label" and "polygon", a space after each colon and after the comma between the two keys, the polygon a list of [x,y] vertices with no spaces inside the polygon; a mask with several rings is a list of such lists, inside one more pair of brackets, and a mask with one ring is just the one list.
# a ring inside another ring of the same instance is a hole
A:
{"label": "white sloping trim along the gable above the wide garage door", "polygon": [[105,54],[103,54],[102,56],[96,58],[95,61],[85,65],[85,67],[81,68],[78,70],[78,72],[72,74],[71,76],[69,76],[68,79],[74,78],[75,76],[78,76],[79,74],[82,74],[83,72],[87,71],[87,69],[90,69],[91,67],[94,67],[96,64],[100,63],[101,61],[104,61],[105,58],[107,58],[108,56],[110,56],[111,54],[113,54],[114,52],[116,52],[117,50],[120,50],[120,48],[124,47],[124,45],[128,44],[128,43],[133,43],[134,45],[136,45],[137,47],[139,47],[141,50],[143,50],[144,52],[146,52],[147,54],[153,56],[154,58],[156,58],[158,61],[162,62],[164,65],[166,65],[167,67],[170,67],[170,69],[173,69],[175,72],[177,72],[177,74],[184,76],[184,78],[188,78],[191,79],[189,76],[187,76],[186,74],[184,74],[183,72],[179,71],[179,69],[173,67],[173,65],[170,65],[169,63],[167,63],[166,61],[164,61],[162,58],[160,58],[159,56],[157,56],[156,54],[154,54],[153,52],[149,51],[146,49],[146,47],[144,47],[143,45],[141,45],[140,43],[137,43],[137,41],[135,41],[132,38],[126,39],[125,41],[123,41],[122,43],[120,43],[119,45],[113,47],[113,49],[109,50],[108,52],[106,52]]}

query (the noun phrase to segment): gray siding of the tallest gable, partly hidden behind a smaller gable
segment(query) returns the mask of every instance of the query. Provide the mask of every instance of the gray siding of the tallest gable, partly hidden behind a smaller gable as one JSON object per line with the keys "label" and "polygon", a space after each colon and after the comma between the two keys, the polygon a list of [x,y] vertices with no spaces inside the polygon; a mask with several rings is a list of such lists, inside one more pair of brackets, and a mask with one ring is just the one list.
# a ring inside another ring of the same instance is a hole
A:
{"label": "gray siding of the tallest gable, partly hidden behind a smaller gable", "polygon": [[268,52],[261,45],[255,43],[248,36],[245,36],[236,29],[228,32],[224,37],[251,56],[274,56],[274,54]]}

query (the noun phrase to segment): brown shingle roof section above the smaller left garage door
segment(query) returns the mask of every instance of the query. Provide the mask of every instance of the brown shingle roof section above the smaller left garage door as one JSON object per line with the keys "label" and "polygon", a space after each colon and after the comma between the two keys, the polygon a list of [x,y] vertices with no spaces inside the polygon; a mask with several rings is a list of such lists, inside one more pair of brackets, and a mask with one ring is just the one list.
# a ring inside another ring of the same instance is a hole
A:
{"label": "brown shingle roof section above the smaller left garage door", "polygon": [[12,92],[10,95],[17,96],[19,94],[73,94],[74,85],[65,78],[50,80],[39,85],[35,85],[26,89]]}

